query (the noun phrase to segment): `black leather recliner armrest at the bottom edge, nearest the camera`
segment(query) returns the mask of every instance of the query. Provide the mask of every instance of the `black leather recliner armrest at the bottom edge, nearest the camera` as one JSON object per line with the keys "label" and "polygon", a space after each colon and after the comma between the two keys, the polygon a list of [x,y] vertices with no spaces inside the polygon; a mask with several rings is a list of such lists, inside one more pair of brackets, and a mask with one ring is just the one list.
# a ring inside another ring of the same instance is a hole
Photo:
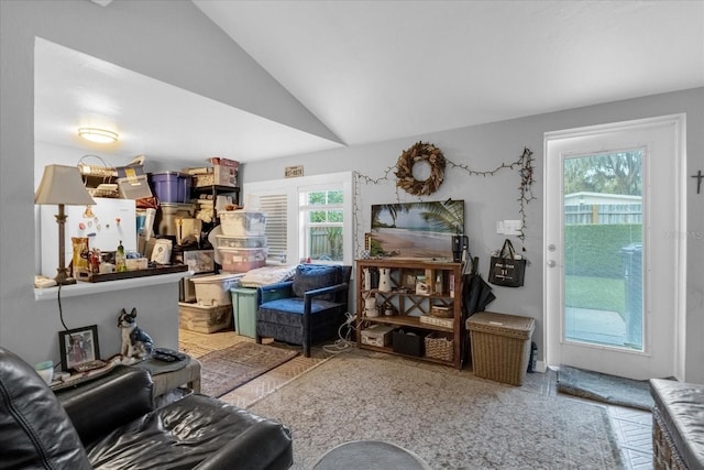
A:
{"label": "black leather recliner armrest at the bottom edge, nearest the camera", "polygon": [[202,461],[197,470],[284,470],[294,463],[290,430],[278,423],[262,420]]}

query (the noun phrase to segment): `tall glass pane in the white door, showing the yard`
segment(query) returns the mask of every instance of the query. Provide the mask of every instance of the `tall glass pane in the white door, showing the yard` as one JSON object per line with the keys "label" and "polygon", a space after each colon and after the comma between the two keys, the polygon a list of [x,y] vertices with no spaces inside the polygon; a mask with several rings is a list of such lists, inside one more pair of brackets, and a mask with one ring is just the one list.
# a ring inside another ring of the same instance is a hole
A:
{"label": "tall glass pane in the white door, showing the yard", "polygon": [[644,349],[642,155],[563,160],[566,341]]}

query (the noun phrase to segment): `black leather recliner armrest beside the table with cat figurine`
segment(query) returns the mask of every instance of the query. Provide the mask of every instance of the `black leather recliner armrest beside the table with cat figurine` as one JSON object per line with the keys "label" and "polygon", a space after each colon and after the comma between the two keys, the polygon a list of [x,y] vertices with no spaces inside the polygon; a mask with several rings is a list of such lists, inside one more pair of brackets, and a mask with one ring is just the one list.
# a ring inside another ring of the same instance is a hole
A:
{"label": "black leather recliner armrest beside the table with cat figurine", "polygon": [[150,373],[116,365],[106,375],[56,392],[80,440],[88,445],[154,408]]}

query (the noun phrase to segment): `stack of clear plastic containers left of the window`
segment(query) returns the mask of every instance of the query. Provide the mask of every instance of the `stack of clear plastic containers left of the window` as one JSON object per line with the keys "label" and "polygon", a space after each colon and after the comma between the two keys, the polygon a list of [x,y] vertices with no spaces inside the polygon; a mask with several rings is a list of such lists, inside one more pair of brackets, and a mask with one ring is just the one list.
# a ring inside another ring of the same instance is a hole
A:
{"label": "stack of clear plastic containers left of the window", "polygon": [[220,229],[217,250],[222,271],[245,273],[266,264],[266,214],[250,210],[218,212]]}

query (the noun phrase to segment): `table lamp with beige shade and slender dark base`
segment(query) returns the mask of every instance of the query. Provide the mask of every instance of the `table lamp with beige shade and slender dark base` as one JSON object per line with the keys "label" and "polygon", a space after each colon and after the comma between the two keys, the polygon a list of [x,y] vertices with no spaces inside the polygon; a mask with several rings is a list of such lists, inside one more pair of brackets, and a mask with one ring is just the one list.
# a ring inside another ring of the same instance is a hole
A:
{"label": "table lamp with beige shade and slender dark base", "polygon": [[68,275],[66,267],[66,253],[64,243],[64,226],[66,214],[64,206],[86,206],[96,204],[84,186],[80,172],[76,166],[47,165],[44,167],[42,182],[34,193],[34,204],[57,205],[58,215],[58,267],[56,269],[57,285],[75,284],[76,280]]}

